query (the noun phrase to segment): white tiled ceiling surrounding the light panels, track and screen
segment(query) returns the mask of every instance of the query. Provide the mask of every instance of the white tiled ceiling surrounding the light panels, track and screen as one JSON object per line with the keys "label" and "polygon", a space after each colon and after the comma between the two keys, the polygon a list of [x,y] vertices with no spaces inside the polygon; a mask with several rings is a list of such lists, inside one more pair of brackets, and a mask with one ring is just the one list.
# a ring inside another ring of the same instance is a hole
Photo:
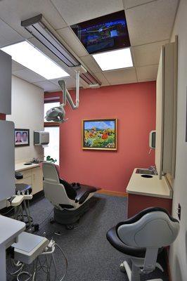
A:
{"label": "white tiled ceiling surrounding the light panels, track and screen", "polygon": [[[53,53],[20,26],[20,21],[39,13],[58,32],[67,46],[102,86],[153,81],[157,75],[160,48],[169,42],[179,0],[1,0],[0,47],[29,39],[52,60],[62,66],[70,77],[65,78],[67,88],[75,87],[75,73]],[[101,15],[125,10],[134,67],[126,70],[102,72],[96,61],[70,29],[70,25],[91,20]],[[13,74],[41,87],[44,91],[58,91],[58,80],[44,77],[13,62]],[[88,87],[81,80],[81,86]]]}

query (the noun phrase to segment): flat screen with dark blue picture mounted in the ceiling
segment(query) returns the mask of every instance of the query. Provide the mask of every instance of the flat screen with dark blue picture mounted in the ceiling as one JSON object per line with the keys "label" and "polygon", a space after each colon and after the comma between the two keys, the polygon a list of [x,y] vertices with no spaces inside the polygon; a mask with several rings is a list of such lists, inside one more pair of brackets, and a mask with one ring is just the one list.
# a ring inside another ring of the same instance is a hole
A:
{"label": "flat screen with dark blue picture mounted in the ceiling", "polygon": [[71,28],[89,53],[131,46],[124,11],[80,22]]}

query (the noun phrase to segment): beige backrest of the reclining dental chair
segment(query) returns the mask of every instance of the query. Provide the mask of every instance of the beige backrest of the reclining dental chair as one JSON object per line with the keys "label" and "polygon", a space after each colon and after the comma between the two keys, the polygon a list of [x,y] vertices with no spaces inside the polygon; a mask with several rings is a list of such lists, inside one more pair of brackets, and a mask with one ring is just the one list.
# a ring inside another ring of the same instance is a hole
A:
{"label": "beige backrest of the reclining dental chair", "polygon": [[42,165],[44,175],[44,194],[45,197],[53,204],[57,209],[64,208],[68,209],[75,204],[75,200],[71,200],[67,196],[65,186],[60,183],[58,171],[56,165],[50,162],[43,162]]}

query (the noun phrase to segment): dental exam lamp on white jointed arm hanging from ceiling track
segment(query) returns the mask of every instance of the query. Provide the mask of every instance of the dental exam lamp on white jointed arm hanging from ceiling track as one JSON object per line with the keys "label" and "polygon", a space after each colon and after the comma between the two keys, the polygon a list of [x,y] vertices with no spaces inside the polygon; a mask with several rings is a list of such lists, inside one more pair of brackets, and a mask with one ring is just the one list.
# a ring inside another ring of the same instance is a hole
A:
{"label": "dental exam lamp on white jointed arm hanging from ceiling track", "polygon": [[59,105],[58,107],[52,107],[50,110],[46,112],[46,121],[53,121],[57,123],[63,123],[67,119],[65,119],[65,105],[68,101],[70,107],[72,107],[72,110],[76,110],[79,107],[79,77],[80,74],[86,73],[85,68],[80,65],[80,67],[75,67],[76,72],[76,100],[75,103],[72,100],[72,97],[70,96],[70,93],[66,89],[66,84],[64,80],[58,81],[58,84],[60,88],[63,91],[63,103]]}

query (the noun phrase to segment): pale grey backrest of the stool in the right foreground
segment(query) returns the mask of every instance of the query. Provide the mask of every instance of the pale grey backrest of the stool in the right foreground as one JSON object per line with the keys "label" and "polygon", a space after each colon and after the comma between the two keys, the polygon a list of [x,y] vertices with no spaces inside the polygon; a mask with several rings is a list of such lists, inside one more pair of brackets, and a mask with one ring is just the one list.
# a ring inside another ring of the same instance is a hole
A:
{"label": "pale grey backrest of the stool in the right foreground", "polygon": [[178,233],[179,221],[162,208],[148,208],[117,225],[120,240],[132,247],[166,247]]}

